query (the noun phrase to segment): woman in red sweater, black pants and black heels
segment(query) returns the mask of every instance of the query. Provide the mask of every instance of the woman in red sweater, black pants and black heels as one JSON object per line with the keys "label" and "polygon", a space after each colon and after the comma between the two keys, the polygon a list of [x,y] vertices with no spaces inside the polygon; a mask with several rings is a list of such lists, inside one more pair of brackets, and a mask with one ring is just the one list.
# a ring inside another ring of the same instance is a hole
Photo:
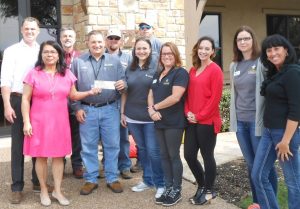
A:
{"label": "woman in red sweater, black pants and black heels", "polygon": [[[196,205],[209,203],[216,197],[213,185],[216,177],[214,149],[217,133],[221,129],[219,103],[222,96],[223,72],[212,61],[215,55],[214,40],[202,37],[193,47],[193,67],[185,101],[185,115],[189,122],[185,132],[184,158],[187,161],[198,189],[191,202]],[[205,172],[197,159],[201,152]]]}

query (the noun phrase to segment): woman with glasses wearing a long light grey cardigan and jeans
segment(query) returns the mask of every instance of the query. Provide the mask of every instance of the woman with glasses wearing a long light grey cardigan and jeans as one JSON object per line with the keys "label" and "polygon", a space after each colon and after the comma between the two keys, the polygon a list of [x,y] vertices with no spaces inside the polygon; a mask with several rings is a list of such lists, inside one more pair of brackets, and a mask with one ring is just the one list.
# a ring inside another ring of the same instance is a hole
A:
{"label": "woman with glasses wearing a long light grey cardigan and jeans", "polygon": [[[236,132],[248,167],[253,198],[253,204],[248,209],[258,209],[258,197],[250,177],[263,129],[264,98],[260,95],[260,86],[266,69],[259,59],[257,38],[249,26],[241,26],[236,31],[233,54],[233,62],[230,64],[230,129]],[[271,169],[269,181],[276,193],[277,175],[274,167]]]}

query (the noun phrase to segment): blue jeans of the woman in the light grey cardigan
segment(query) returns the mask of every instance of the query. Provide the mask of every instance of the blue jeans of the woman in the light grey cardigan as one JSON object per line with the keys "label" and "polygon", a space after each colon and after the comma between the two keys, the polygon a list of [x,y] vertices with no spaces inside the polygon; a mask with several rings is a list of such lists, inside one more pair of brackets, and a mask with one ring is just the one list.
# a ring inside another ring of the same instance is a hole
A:
{"label": "blue jeans of the woman in the light grey cardigan", "polygon": [[[239,142],[245,161],[247,163],[253,202],[258,203],[255,187],[251,179],[254,157],[261,138],[259,136],[255,136],[255,122],[237,121],[236,137]],[[270,171],[269,181],[272,185],[275,194],[277,194],[277,174],[274,166]]]}

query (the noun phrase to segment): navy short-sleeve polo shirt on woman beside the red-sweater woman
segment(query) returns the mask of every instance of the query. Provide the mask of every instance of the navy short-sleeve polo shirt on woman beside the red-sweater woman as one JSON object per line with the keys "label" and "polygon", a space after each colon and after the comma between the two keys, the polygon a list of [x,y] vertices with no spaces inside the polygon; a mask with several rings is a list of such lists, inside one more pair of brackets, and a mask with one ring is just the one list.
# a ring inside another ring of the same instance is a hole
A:
{"label": "navy short-sleeve polo shirt on woman beside the red-sweater woman", "polygon": [[[151,89],[153,92],[154,104],[159,103],[172,95],[174,86],[187,88],[189,75],[184,68],[173,68],[168,74],[159,80],[160,73],[153,77]],[[184,98],[164,109],[159,110],[162,115],[160,121],[155,121],[156,128],[184,128],[186,119],[184,116]]]}

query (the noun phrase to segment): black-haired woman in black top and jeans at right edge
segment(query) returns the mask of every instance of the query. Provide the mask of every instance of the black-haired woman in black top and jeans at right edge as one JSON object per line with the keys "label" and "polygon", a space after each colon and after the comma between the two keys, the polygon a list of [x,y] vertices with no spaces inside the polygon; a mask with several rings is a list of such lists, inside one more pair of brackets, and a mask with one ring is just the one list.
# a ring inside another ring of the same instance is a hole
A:
{"label": "black-haired woman in black top and jeans at right edge", "polygon": [[300,66],[289,41],[280,35],[262,43],[261,61],[268,69],[261,94],[265,96],[264,126],[255,156],[252,180],[263,209],[279,209],[268,180],[276,159],[288,188],[289,209],[300,208]]}

